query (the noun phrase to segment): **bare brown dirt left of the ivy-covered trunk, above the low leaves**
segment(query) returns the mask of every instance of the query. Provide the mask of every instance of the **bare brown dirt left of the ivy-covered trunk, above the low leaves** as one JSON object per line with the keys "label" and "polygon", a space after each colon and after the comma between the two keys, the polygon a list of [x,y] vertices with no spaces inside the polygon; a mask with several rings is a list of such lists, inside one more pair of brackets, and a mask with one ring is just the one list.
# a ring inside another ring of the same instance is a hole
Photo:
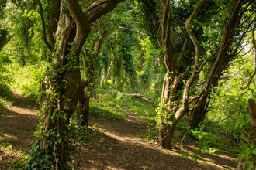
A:
{"label": "bare brown dirt left of the ivy-covered trunk, above the low leaves", "polygon": [[0,112],[0,142],[29,151],[39,119],[39,107],[34,110],[36,104],[29,100],[29,97],[22,96],[16,90],[13,90],[13,93],[13,104]]}

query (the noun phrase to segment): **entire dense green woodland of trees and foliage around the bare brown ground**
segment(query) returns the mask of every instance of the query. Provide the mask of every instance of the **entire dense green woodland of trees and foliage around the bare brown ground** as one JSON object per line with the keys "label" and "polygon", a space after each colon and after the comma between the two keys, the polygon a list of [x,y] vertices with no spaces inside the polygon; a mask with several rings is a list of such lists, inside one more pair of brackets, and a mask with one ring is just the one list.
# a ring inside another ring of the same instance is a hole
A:
{"label": "entire dense green woodland of trees and foliage around the bare brown ground", "polygon": [[[125,107],[146,122],[141,138],[195,162],[234,152],[253,169],[255,12],[253,0],[2,0],[0,114],[13,89],[40,104],[20,166],[74,168],[81,129]],[[196,141],[195,155],[176,137]]]}

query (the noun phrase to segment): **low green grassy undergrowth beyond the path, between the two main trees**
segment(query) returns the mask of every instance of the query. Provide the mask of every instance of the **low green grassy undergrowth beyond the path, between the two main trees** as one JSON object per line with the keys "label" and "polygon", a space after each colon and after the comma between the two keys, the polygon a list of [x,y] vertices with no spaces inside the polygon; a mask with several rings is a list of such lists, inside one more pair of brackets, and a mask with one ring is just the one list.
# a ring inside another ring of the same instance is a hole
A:
{"label": "low green grassy undergrowth beyond the path, between the two main trees", "polygon": [[140,116],[147,124],[147,133],[141,134],[141,138],[157,141],[157,128],[155,117],[157,115],[155,106],[147,104],[143,100],[123,96],[114,87],[99,87],[95,91],[90,103],[90,117],[101,118],[106,121],[119,121],[125,117],[123,107],[126,110]]}

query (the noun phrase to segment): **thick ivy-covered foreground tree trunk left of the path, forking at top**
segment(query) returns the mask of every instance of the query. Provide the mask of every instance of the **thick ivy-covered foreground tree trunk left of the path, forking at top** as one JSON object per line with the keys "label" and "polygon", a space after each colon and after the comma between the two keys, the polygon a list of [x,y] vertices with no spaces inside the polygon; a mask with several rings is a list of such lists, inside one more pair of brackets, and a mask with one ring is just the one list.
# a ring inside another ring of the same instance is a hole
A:
{"label": "thick ivy-covered foreground tree trunk left of the path, forking at top", "polygon": [[[58,27],[54,32],[57,42],[54,63],[43,80],[43,87],[46,89],[41,109],[43,117],[40,120],[38,141],[34,144],[39,147],[30,155],[27,166],[29,169],[70,169],[70,117],[77,109],[78,102],[85,103],[84,89],[88,85],[87,79],[81,80],[81,48],[89,32],[95,28],[92,22],[112,11],[119,2],[123,0],[99,0],[84,12],[77,0],[60,2],[63,16],[58,20]],[[67,10],[64,10],[66,7]],[[45,35],[45,29],[43,32]]]}

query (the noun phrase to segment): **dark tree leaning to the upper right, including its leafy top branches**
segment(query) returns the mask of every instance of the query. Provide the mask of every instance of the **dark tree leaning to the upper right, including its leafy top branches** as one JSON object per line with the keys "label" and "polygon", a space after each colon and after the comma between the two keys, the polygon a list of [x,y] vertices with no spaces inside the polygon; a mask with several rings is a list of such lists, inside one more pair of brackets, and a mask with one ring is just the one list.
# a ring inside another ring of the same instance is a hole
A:
{"label": "dark tree leaning to the upper right, including its leafy top branches", "polygon": [[[194,107],[192,110],[192,117],[190,117],[190,124],[192,128],[203,121],[206,115],[206,107],[209,104],[209,97],[212,88],[216,86],[220,80],[220,76],[230,66],[230,62],[236,57],[241,56],[241,52],[245,48],[243,40],[246,38],[247,33],[250,32],[251,26],[255,22],[254,17],[254,2],[251,1],[234,1],[230,4],[230,12],[227,15],[228,21],[223,29],[223,39],[220,44],[218,53],[216,54],[215,62],[210,67],[209,75],[206,76],[206,83],[202,86],[199,95],[195,95]],[[234,7],[237,4],[238,7]],[[243,6],[244,5],[244,6]],[[235,13],[237,12],[237,13]],[[234,18],[237,16],[237,18]],[[237,20],[236,22],[233,22]],[[244,21],[247,22],[244,22]],[[231,29],[231,30],[229,30]],[[206,102],[208,98],[208,104]]]}

